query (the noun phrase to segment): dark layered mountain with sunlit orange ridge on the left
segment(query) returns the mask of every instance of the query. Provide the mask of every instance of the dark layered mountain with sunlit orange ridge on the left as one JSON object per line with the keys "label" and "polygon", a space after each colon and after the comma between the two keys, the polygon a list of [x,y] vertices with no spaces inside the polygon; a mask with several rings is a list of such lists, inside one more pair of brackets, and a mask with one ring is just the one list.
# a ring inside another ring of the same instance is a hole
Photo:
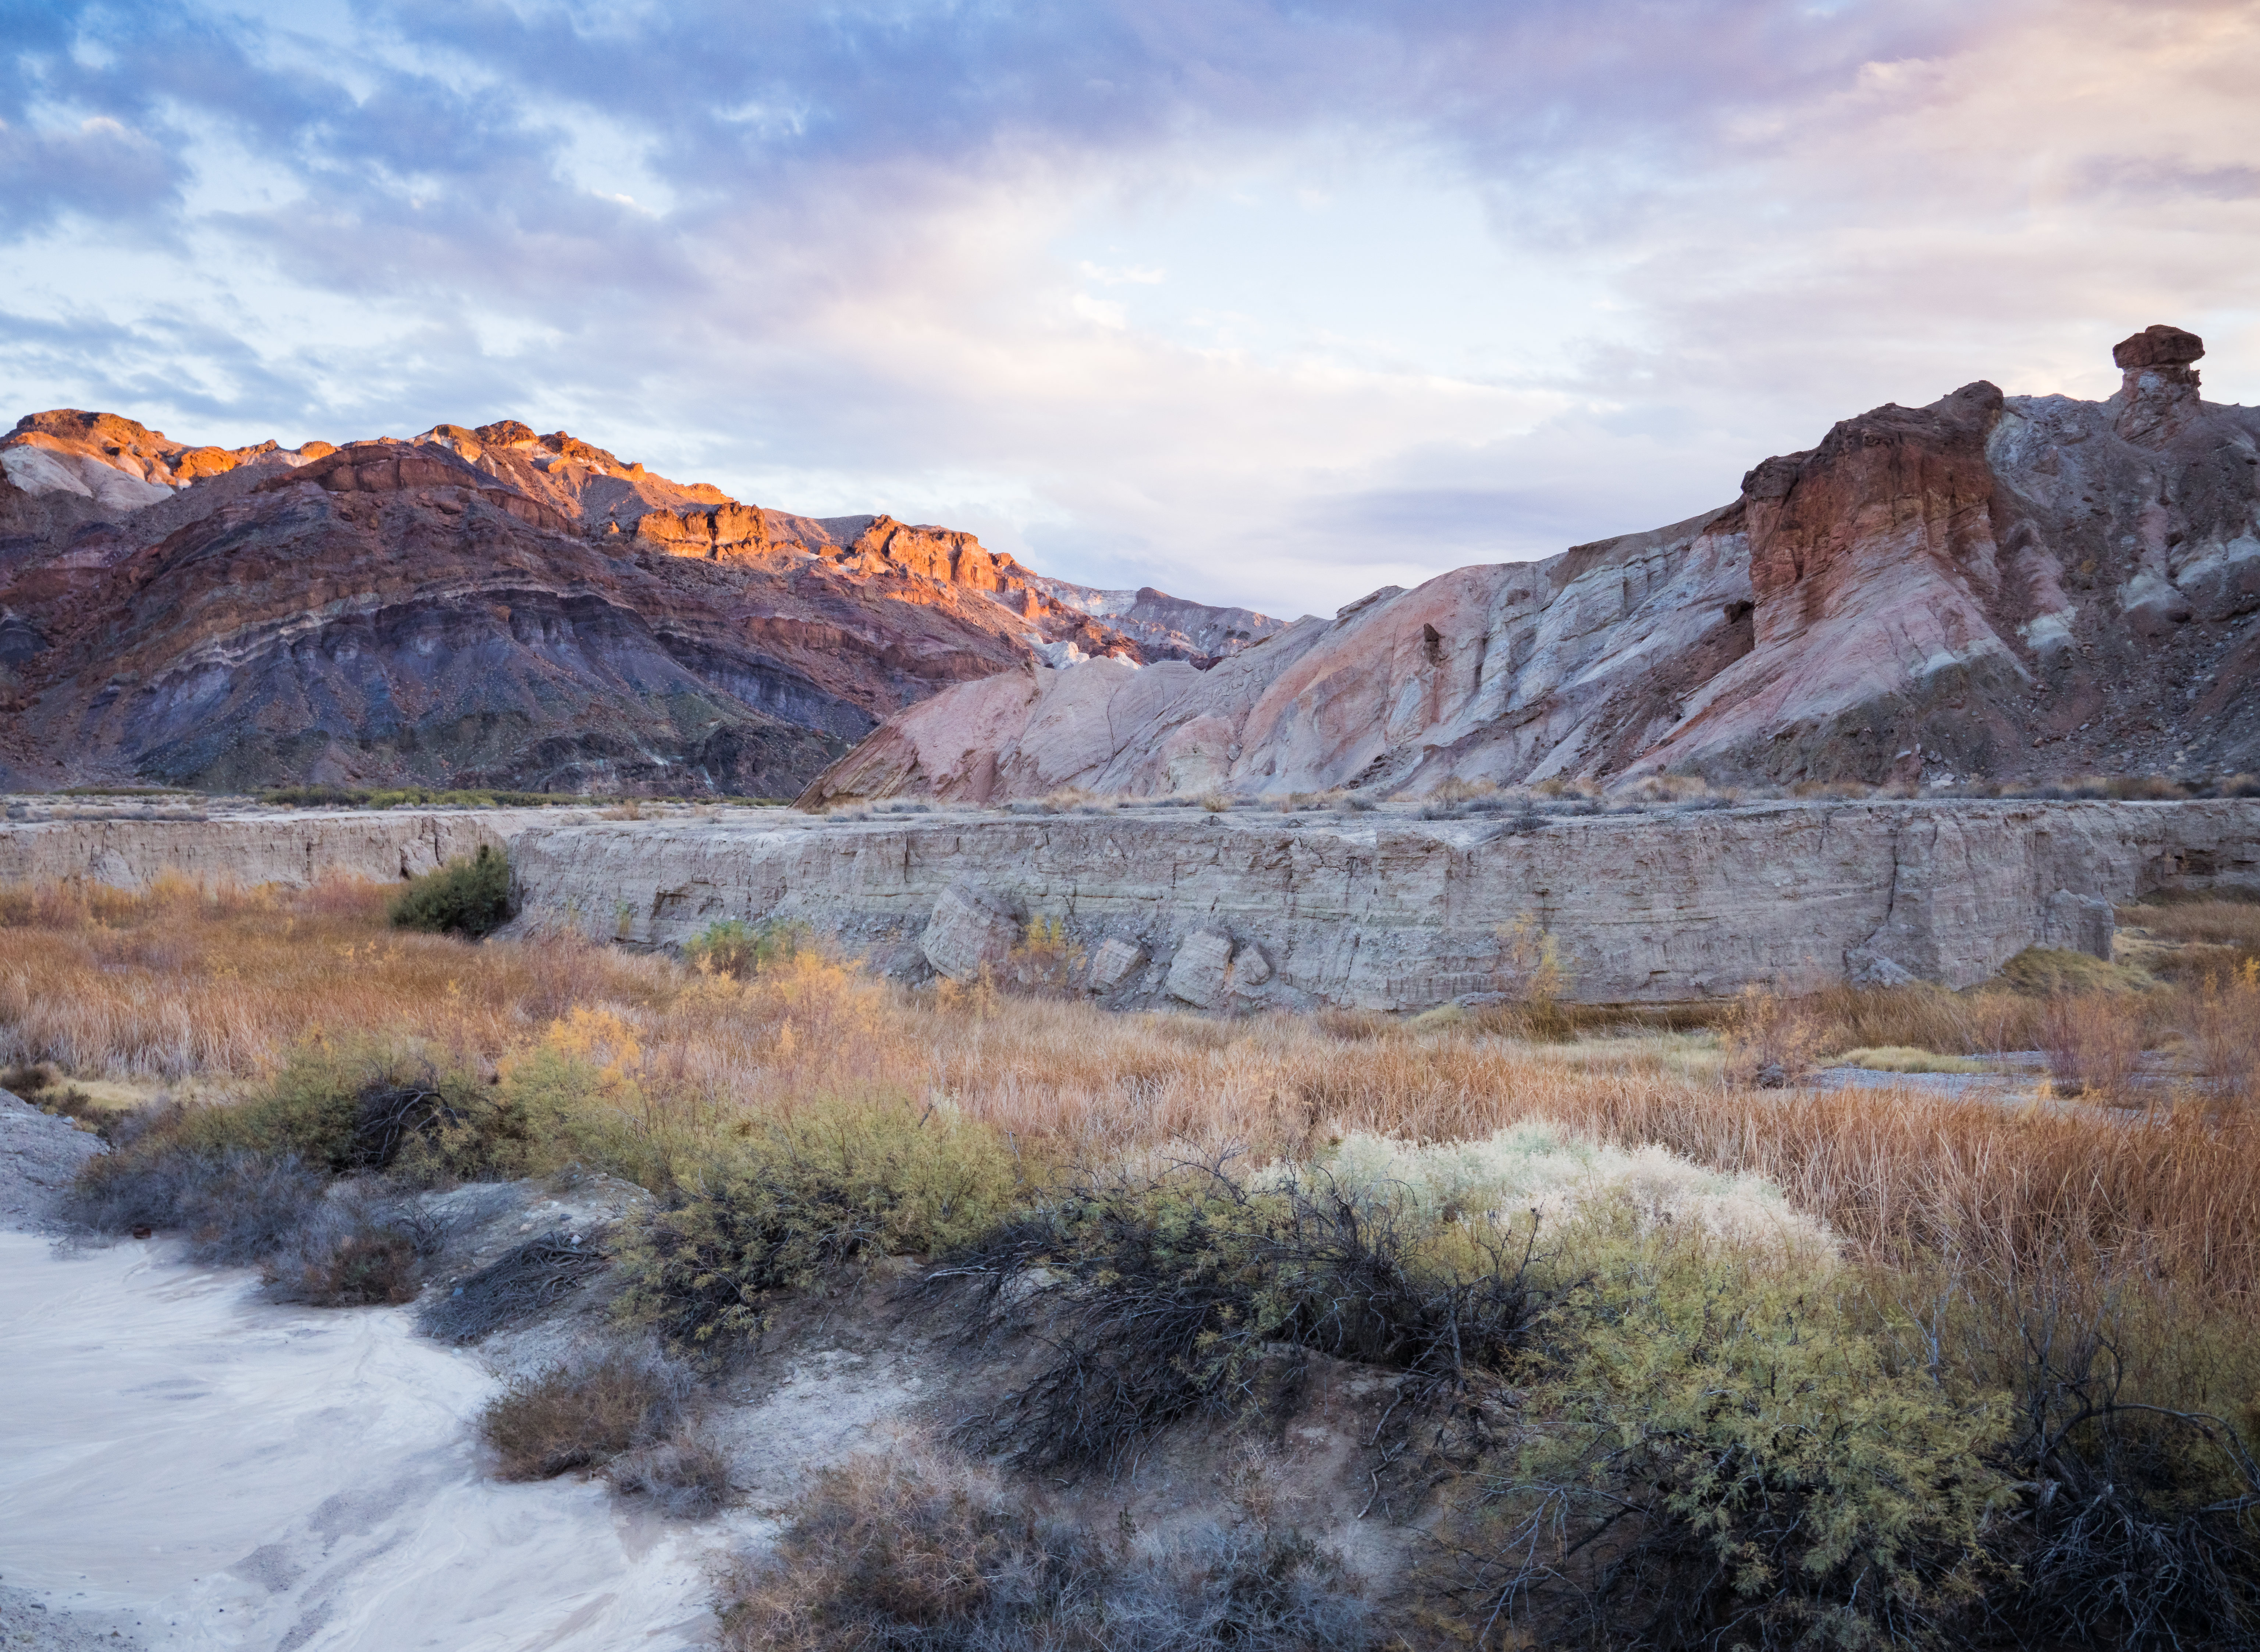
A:
{"label": "dark layered mountain with sunlit orange ridge on the left", "polygon": [[0,438],[0,786],[777,795],[954,682],[1277,628],[1114,597],[513,420],[221,450],[34,414]]}

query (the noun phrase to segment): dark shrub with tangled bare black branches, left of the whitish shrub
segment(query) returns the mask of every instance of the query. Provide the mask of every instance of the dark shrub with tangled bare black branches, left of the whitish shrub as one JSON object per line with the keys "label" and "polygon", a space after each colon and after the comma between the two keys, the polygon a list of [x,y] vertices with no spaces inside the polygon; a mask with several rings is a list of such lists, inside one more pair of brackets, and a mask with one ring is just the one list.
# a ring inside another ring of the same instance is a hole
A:
{"label": "dark shrub with tangled bare black branches, left of the whitish shrub", "polygon": [[1112,1471],[1184,1417],[1290,1408],[1295,1351],[1406,1372],[1419,1394],[1505,1358],[1530,1315],[1528,1241],[1514,1225],[1440,1238],[1320,1166],[1250,1186],[1220,1162],[1175,1164],[1087,1180],[922,1288],[965,1336],[1042,1349],[970,1437],[1028,1464]]}

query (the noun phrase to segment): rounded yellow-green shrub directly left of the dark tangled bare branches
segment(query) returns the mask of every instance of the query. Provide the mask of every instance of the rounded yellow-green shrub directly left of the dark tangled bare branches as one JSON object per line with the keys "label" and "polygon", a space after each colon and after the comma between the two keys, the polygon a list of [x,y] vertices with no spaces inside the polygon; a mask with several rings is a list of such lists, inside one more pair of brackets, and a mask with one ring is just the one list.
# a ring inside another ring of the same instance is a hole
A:
{"label": "rounded yellow-green shrub directly left of the dark tangled bare branches", "polygon": [[832,1103],[746,1121],[621,1243],[621,1311],[678,1349],[725,1354],[759,1338],[782,1293],[963,1245],[1017,1200],[999,1132],[942,1107]]}

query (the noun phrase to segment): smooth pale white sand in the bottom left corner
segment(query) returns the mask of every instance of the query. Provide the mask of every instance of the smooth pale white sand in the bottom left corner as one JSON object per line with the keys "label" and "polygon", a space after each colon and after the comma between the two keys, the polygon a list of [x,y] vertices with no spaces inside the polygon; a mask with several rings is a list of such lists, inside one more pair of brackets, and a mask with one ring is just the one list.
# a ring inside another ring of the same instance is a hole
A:
{"label": "smooth pale white sand in the bottom left corner", "polygon": [[127,1611],[154,1652],[676,1652],[753,1514],[671,1525],[601,1485],[495,1485],[493,1379],[405,1308],[0,1232],[0,1577]]}

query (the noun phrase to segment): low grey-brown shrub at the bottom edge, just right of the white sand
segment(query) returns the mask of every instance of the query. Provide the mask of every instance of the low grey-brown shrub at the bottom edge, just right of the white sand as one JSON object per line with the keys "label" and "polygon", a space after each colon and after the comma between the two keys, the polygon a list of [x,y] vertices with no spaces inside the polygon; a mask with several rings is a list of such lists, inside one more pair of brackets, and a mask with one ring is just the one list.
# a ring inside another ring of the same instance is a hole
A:
{"label": "low grey-brown shrub at the bottom edge, just right of the white sand", "polygon": [[994,1476],[899,1442],[827,1469],[716,1602],[732,1652],[1354,1652],[1347,1568],[1243,1516],[1173,1539],[1101,1537],[1012,1505]]}

